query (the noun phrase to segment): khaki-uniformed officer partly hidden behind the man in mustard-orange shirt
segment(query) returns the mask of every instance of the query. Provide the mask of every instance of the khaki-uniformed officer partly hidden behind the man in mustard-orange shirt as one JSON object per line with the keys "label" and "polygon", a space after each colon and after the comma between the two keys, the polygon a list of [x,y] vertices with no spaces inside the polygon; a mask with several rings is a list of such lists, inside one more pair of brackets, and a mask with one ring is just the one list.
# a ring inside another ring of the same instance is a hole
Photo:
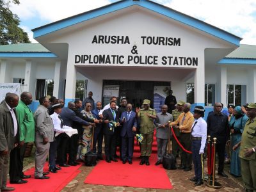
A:
{"label": "khaki-uniformed officer partly hidden behind the man in mustard-orange shirt", "polygon": [[[178,117],[180,116],[181,113],[183,113],[183,105],[184,104],[185,104],[184,101],[179,100],[179,102],[177,103],[177,109],[174,109],[172,111],[173,122],[178,119]],[[179,140],[179,137],[180,137],[179,125],[173,125],[173,131],[175,133],[175,136],[177,136],[177,139]],[[179,151],[181,152],[181,148],[179,147],[175,138],[172,137],[172,154],[173,154],[173,156],[178,157]]]}

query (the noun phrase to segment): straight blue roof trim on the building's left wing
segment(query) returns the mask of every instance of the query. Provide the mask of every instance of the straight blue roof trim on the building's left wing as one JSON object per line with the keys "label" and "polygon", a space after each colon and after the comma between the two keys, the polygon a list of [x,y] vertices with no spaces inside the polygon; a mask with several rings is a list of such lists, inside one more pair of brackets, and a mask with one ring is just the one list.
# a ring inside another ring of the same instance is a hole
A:
{"label": "straight blue roof trim on the building's left wing", "polygon": [[52,52],[0,52],[0,58],[58,58]]}

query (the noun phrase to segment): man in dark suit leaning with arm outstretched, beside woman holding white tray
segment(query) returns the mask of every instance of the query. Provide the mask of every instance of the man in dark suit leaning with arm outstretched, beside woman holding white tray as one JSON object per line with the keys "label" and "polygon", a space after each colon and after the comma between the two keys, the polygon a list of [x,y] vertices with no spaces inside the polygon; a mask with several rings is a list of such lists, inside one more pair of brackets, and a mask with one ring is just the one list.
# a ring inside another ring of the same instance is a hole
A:
{"label": "man in dark suit leaning with arm outstretched, beside woman holding white tray", "polygon": [[[90,125],[91,123],[86,122],[85,120],[79,118],[76,113],[74,112],[74,110],[76,109],[76,105],[74,104],[74,102],[70,101],[68,102],[68,107],[67,108],[63,108],[60,116],[63,119],[64,125],[67,125],[69,127],[72,128],[76,128],[73,127],[74,122],[77,122],[78,124],[82,124],[82,125]],[[68,153],[68,164],[72,165],[72,166],[76,166],[77,163],[76,162],[76,155],[77,155],[77,134],[73,134],[70,138],[69,142],[69,153]],[[60,166],[68,166],[67,164],[60,164]]]}

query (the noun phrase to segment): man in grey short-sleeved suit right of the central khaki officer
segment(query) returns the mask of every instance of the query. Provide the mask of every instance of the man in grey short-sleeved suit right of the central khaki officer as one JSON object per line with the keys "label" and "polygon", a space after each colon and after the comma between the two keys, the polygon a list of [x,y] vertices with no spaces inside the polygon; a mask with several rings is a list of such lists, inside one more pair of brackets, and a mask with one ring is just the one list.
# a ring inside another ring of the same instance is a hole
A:
{"label": "man in grey short-sleeved suit right of the central khaki officer", "polygon": [[156,141],[157,141],[157,162],[155,165],[159,165],[163,162],[163,157],[166,154],[166,148],[168,144],[169,121],[172,122],[172,115],[167,113],[168,106],[163,105],[161,112],[156,114]]}

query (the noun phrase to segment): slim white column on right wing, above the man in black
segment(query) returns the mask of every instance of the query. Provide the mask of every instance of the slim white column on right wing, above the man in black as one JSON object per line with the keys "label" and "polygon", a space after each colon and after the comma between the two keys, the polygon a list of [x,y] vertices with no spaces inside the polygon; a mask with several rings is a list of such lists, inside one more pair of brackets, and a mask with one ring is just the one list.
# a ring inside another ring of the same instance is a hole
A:
{"label": "slim white column on right wing, above the man in black", "polygon": [[220,67],[220,101],[223,103],[224,107],[227,107],[227,67]]}

